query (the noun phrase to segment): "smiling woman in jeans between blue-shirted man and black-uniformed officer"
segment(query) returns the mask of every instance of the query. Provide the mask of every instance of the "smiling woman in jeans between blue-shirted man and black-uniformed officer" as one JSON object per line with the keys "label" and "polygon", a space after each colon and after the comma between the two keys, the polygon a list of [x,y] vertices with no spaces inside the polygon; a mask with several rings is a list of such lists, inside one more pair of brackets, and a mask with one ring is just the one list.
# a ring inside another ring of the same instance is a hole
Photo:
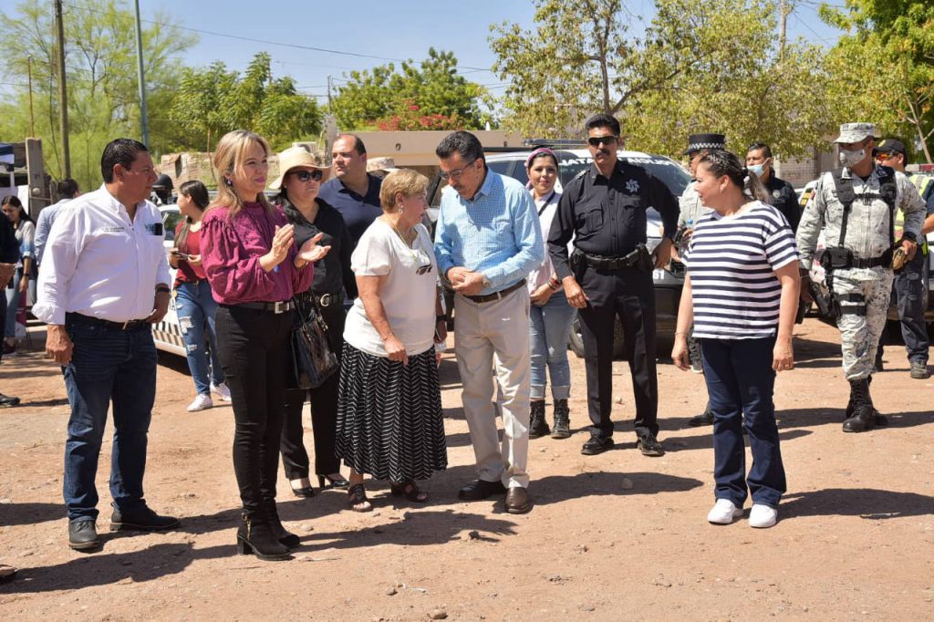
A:
{"label": "smiling woman in jeans between blue-shirted man and black-uniformed officer", "polygon": [[[558,180],[558,156],[549,148],[531,152],[526,161],[529,189],[538,209],[542,235],[547,239],[551,220],[558,209],[561,193],[555,191]],[[531,343],[531,417],[529,438],[539,438],[551,432],[552,438],[571,436],[568,396],[571,394],[571,367],[568,364],[568,337],[575,309],[568,304],[564,286],[555,275],[551,258],[529,273],[529,337]],[[545,375],[551,375],[551,398],[555,403],[555,428],[545,422]]]}

